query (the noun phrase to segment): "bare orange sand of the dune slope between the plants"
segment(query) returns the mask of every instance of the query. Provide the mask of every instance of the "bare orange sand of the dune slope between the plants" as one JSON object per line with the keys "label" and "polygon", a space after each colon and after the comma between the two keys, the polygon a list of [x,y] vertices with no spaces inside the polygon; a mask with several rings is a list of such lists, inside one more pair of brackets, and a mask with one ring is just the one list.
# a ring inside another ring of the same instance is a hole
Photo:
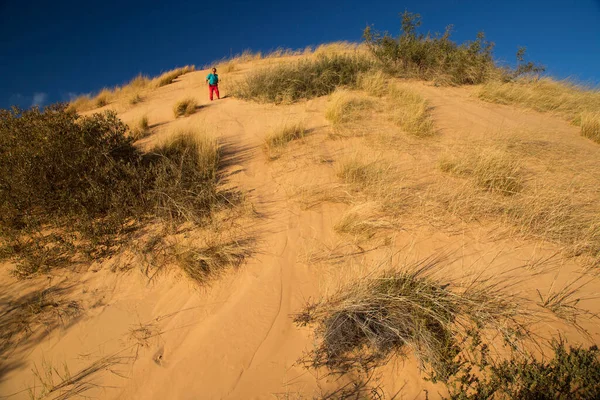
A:
{"label": "bare orange sand of the dune slope between the plants", "polygon": [[[223,73],[223,80],[246,71],[241,68],[230,76]],[[204,86],[206,73],[183,75],[135,106],[106,107],[115,107],[129,123],[143,115],[149,117],[152,135],[140,141],[142,147],[185,126],[201,126],[219,139],[229,157],[227,185],[246,193],[256,212],[240,228],[254,239],[253,256],[240,269],[203,287],[176,270],[151,281],[136,265],[113,272],[111,265],[125,262],[116,259],[85,271],[61,271],[27,281],[15,280],[9,274],[10,265],[3,266],[3,308],[28,291],[51,284],[65,288],[61,295],[65,299],[78,299],[81,312],[65,317],[65,323],[48,335],[33,336],[2,354],[2,396],[28,398],[27,389],[36,384],[32,368],[52,365],[62,371],[66,364],[73,376],[100,360],[110,367],[82,380],[93,386],[86,396],[313,398],[345,381],[298,364],[303,353],[313,348],[313,333],[297,327],[292,315],[301,311],[307,300],[331,293],[342,282],[372,270],[378,260],[393,257],[408,262],[446,254],[451,269],[459,274],[473,268],[502,271],[550,259],[547,268],[554,272],[532,278],[523,289],[531,296],[537,295],[536,290],[545,293],[553,284],[569,282],[585,270],[585,260],[568,257],[560,243],[515,233],[498,218],[466,218],[458,211],[441,218],[442,214],[430,213],[426,195],[419,209],[399,219],[400,226],[372,242],[336,233],[336,223],[351,205],[315,201],[308,206],[304,201],[315,188],[330,188],[326,190],[333,193],[339,187],[336,165],[353,154],[391,159],[398,168],[394,173],[403,174],[403,182],[415,190],[425,182],[460,181],[439,171],[438,157],[444,151],[457,147],[466,151],[467,144],[495,146],[501,141],[512,144],[511,151],[524,160],[531,174],[567,179],[580,187],[597,185],[600,146],[580,137],[578,129],[567,122],[484,103],[475,96],[476,87],[438,88],[412,82],[405,84],[432,107],[438,133],[426,139],[428,142],[403,134],[386,117],[385,108],[376,108],[363,125],[357,123],[352,137],[337,138],[324,116],[327,97],[292,105],[263,105],[227,97],[225,86],[225,98],[210,102]],[[174,119],[172,105],[186,96],[196,98],[200,108],[190,117]],[[307,137],[269,161],[263,150],[266,135],[282,124],[299,121],[306,124]],[[365,127],[374,133],[363,135]],[[371,248],[374,250],[365,251]],[[594,278],[582,296],[592,296],[597,290]],[[592,301],[586,305],[600,311]],[[592,341],[597,341],[600,330],[593,323],[585,324]],[[539,329],[552,332],[557,327]],[[566,332],[574,341],[584,340],[574,330]],[[422,379],[412,359],[398,361],[378,374],[388,396],[402,389],[399,398],[425,398],[426,391],[429,398],[435,398],[441,390]]]}

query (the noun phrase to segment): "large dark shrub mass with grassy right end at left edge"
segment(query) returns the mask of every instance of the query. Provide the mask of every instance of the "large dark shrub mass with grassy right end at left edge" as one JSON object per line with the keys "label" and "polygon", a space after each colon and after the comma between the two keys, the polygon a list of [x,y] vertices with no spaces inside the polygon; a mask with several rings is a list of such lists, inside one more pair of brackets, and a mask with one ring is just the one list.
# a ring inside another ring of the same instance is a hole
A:
{"label": "large dark shrub mass with grassy right end at left edge", "polygon": [[113,112],[0,111],[0,234],[27,276],[111,254],[151,218],[202,223],[225,203],[219,150],[193,132],[142,153]]}

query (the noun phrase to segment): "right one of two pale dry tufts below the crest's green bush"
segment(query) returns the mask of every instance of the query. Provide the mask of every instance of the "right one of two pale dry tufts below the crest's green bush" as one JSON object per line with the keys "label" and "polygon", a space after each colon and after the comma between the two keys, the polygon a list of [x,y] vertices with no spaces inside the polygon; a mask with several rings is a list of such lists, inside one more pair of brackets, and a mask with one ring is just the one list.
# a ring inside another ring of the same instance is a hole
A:
{"label": "right one of two pale dry tufts below the crest's green bush", "polygon": [[407,133],[417,137],[434,134],[433,120],[427,101],[406,86],[394,85],[389,88],[389,101],[392,106],[392,119]]}

